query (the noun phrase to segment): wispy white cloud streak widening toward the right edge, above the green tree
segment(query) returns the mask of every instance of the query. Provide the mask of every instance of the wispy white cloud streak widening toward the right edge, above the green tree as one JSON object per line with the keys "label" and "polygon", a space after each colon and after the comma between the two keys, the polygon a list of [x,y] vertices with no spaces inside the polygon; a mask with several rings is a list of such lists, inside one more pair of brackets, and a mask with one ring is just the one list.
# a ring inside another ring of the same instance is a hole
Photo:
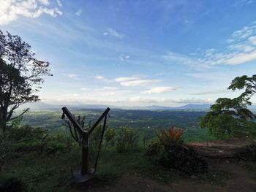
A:
{"label": "wispy white cloud streak widening toward the right edge, above the green tree", "polygon": [[216,65],[238,65],[256,60],[256,22],[234,31],[227,39],[227,47],[222,52],[208,49],[190,56],[169,52],[165,60],[188,66],[210,67]]}

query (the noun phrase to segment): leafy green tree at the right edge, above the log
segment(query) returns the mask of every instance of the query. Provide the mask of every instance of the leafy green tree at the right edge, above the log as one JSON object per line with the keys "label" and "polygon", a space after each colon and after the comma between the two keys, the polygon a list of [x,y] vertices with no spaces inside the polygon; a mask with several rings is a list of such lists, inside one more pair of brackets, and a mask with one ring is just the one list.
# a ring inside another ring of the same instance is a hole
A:
{"label": "leafy green tree at the right edge, above the log", "polygon": [[249,101],[256,93],[256,75],[236,77],[227,88],[233,91],[244,89],[240,96],[219,98],[207,114],[200,118],[200,127],[218,139],[256,134],[256,116],[248,110]]}

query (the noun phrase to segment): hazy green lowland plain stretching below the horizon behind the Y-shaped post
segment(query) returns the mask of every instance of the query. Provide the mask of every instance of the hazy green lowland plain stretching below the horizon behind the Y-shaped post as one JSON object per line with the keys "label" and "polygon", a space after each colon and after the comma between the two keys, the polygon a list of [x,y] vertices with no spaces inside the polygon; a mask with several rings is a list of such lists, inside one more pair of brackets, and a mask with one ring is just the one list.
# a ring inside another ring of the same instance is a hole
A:
{"label": "hazy green lowland plain stretching below the horizon behind the Y-shaped post", "polygon": [[[94,123],[104,110],[84,110],[69,109],[74,115],[85,115],[86,123]],[[108,118],[108,127],[120,128],[127,126],[139,131],[141,137],[152,139],[154,131],[159,128],[178,128],[187,129],[184,139],[187,141],[205,140],[206,131],[198,125],[198,118],[205,115],[204,111],[187,111],[187,110],[110,110]],[[50,132],[67,131],[64,121],[61,120],[61,110],[42,110],[31,111],[24,115],[23,123],[31,126],[40,126],[48,128]]]}

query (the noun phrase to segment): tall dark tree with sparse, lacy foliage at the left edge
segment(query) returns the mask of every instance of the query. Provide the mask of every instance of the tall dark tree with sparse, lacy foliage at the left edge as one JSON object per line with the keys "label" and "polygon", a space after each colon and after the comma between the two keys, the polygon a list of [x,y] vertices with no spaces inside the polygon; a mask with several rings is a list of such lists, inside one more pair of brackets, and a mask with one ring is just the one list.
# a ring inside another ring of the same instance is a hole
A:
{"label": "tall dark tree with sparse, lacy foliage at the left edge", "polygon": [[51,75],[50,64],[34,58],[31,46],[17,35],[0,30],[0,128],[27,112],[13,117],[20,104],[39,101],[37,92],[44,82],[43,75]]}

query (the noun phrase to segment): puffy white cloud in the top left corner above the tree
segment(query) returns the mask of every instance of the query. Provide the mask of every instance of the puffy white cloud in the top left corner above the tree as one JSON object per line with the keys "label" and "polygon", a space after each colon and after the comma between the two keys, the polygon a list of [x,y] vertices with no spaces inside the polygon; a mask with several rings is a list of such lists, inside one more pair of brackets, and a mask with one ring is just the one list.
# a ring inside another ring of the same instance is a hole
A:
{"label": "puffy white cloud in the top left corner above the tree", "polygon": [[48,8],[47,0],[4,0],[0,6],[0,25],[7,25],[12,21],[18,20],[20,16],[26,18],[39,18],[42,14],[52,17],[62,15],[58,8]]}

